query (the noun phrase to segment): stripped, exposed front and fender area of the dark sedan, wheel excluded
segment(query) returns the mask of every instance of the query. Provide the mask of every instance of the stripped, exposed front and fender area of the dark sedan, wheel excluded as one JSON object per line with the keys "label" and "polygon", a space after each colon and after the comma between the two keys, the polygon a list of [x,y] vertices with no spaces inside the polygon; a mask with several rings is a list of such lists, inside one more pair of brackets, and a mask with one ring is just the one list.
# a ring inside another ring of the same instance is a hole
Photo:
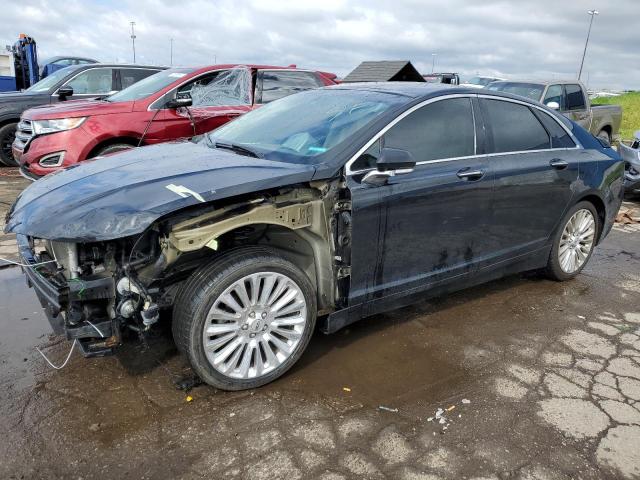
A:
{"label": "stripped, exposed front and fender area of the dark sedan, wheel excluded", "polygon": [[339,180],[322,181],[191,207],[122,239],[22,236],[22,256],[33,265],[23,268],[54,331],[77,339],[85,356],[111,354],[131,337],[144,342],[185,279],[239,246],[268,246],[298,265],[326,315],[346,306],[350,205]]}

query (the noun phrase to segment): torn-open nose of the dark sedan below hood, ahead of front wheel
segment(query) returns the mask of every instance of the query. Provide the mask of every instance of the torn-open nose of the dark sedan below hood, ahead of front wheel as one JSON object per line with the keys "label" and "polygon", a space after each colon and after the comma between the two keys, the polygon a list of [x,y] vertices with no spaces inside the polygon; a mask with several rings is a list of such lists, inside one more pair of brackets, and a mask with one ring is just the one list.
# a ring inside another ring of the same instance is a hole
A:
{"label": "torn-open nose of the dark sedan below hood, ahead of front wheel", "polygon": [[140,262],[138,256],[127,258],[131,239],[78,244],[18,235],[17,240],[27,284],[54,333],[77,340],[85,356],[109,355],[124,329],[140,333],[158,320],[153,295],[128,274]]}

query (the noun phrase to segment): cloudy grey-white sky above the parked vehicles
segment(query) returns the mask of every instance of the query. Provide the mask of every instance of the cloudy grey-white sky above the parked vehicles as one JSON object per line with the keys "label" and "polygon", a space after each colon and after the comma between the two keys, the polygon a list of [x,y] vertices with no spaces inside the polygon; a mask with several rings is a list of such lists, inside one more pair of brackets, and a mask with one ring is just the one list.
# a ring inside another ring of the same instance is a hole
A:
{"label": "cloudy grey-white sky above the parked vehicles", "polygon": [[4,2],[5,44],[21,32],[40,58],[174,65],[267,63],[345,75],[362,60],[508,78],[574,78],[597,8],[583,81],[640,89],[640,0],[30,0]]}

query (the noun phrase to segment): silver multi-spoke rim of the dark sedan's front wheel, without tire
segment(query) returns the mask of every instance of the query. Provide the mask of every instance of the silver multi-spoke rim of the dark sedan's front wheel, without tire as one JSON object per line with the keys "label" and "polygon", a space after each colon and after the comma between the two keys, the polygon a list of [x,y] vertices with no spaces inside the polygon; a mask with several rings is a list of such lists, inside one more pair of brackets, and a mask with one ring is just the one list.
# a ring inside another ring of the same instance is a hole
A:
{"label": "silver multi-spoke rim of the dark sedan's front wheel, without tire", "polygon": [[211,366],[231,378],[266,375],[295,351],[307,324],[302,290],[286,275],[258,272],[215,299],[203,329]]}

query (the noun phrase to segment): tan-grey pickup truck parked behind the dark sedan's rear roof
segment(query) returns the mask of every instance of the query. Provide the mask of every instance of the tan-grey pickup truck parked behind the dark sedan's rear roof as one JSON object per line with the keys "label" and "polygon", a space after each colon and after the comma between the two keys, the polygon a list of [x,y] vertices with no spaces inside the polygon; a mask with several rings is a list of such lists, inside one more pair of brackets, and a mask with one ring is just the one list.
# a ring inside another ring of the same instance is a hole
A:
{"label": "tan-grey pickup truck parked behind the dark sedan's rear roof", "polygon": [[622,108],[619,105],[592,106],[584,85],[576,80],[505,80],[493,82],[487,88],[537,100],[560,111],[596,137],[609,143],[620,140],[618,131],[622,120]]}

